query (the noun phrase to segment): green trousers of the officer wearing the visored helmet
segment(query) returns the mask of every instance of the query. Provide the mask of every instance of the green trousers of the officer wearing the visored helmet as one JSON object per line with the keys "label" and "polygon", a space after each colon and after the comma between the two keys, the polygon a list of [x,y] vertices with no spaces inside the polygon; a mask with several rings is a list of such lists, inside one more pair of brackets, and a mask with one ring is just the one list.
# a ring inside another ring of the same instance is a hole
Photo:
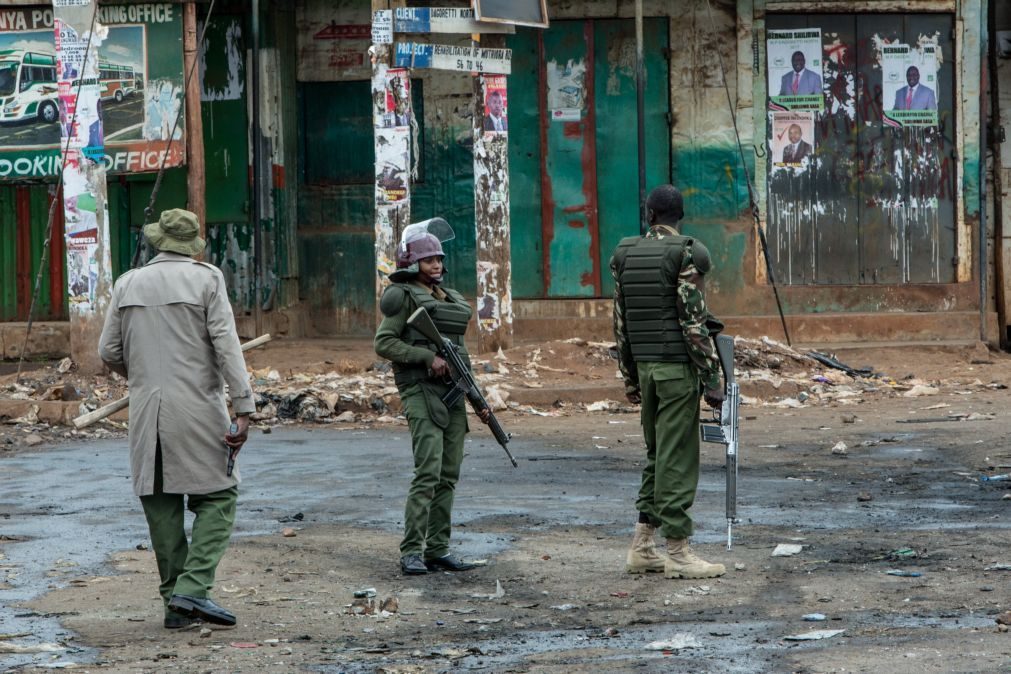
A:
{"label": "green trousers of the officer wearing the visored helmet", "polygon": [[[435,395],[437,391],[445,392],[446,387],[432,386],[429,390],[426,393],[421,385],[410,384],[400,391],[415,452],[415,479],[403,508],[400,555],[424,554],[427,559],[435,559],[449,553],[453,496],[460,479],[463,441],[468,428],[462,400],[446,410]],[[433,414],[430,405],[442,405],[442,409],[436,407]]]}

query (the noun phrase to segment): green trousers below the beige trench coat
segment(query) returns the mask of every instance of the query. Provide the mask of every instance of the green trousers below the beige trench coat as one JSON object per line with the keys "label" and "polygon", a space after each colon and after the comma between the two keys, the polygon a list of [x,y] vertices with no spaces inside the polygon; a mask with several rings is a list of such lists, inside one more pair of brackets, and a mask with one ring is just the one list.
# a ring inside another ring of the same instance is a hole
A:
{"label": "green trousers below the beige trench coat", "polygon": [[187,507],[193,519],[192,542],[186,542],[183,523],[185,494],[162,491],[162,450],[155,461],[155,493],[142,496],[144,514],[151,529],[151,545],[158,560],[159,586],[166,605],[173,594],[207,597],[214,572],[224,556],[236,521],[238,487],[209,494],[189,494]]}

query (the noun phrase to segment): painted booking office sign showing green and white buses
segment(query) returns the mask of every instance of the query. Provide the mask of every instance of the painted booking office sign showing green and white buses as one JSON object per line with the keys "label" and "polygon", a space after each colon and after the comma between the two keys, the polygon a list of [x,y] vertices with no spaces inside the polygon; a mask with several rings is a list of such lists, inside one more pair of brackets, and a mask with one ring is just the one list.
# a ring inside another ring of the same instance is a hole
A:
{"label": "painted booking office sign showing green and white buses", "polygon": [[166,166],[183,164],[181,5],[101,5],[97,63],[84,62],[87,34],[58,31],[51,8],[3,14],[0,179],[58,175],[62,135],[111,173],[158,171],[170,135]]}

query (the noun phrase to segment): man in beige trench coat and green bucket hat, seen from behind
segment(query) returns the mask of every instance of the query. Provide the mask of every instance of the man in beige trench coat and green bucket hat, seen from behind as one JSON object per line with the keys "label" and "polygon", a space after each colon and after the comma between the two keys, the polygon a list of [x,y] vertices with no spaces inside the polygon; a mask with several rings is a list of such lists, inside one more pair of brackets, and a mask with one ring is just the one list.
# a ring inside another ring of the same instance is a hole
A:
{"label": "man in beige trench coat and green bucket hat, seen from behind", "polygon": [[[130,472],[158,560],[165,627],[231,625],[236,616],[210,598],[210,588],[239,494],[227,448],[238,452],[246,442],[253,391],[224,277],[193,260],[204,248],[196,215],[167,210],[144,234],[159,255],[116,281],[99,355],[129,380]],[[189,543],[184,499],[196,515]]]}

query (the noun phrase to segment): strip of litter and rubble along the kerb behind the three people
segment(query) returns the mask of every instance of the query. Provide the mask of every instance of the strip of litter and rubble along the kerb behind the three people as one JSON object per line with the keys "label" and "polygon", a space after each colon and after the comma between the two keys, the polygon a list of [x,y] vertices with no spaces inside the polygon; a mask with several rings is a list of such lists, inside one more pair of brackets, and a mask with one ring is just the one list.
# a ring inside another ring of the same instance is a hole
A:
{"label": "strip of litter and rubble along the kerb behind the three people", "polygon": [[[284,349],[285,345],[275,343],[271,348]],[[473,357],[472,362],[475,377],[495,412],[536,416],[635,413],[638,407],[624,399],[615,359],[614,344],[572,338]],[[924,380],[910,376],[897,380],[871,368],[850,367],[831,355],[802,353],[768,338],[736,338],[735,361],[742,404],[753,406],[851,405],[875,396],[915,398],[1006,388],[976,378]],[[269,430],[280,423],[405,423],[399,414],[399,396],[389,363],[342,361],[339,371],[323,373],[319,366],[306,364],[304,371],[289,370],[287,375],[270,367],[252,370],[255,424]],[[48,437],[121,434],[125,424],[109,419],[83,430],[68,429],[68,424],[70,418],[126,393],[126,382],[118,375],[82,377],[70,359],[33,370],[20,382],[14,381],[14,375],[0,377],[0,450],[15,443],[40,444]],[[14,401],[33,404],[16,405]],[[69,403],[61,408],[62,416],[54,416],[52,405],[47,406],[52,402]],[[939,403],[930,409],[944,406]],[[11,426],[18,432],[12,435]],[[32,435],[36,438],[28,438]]]}

